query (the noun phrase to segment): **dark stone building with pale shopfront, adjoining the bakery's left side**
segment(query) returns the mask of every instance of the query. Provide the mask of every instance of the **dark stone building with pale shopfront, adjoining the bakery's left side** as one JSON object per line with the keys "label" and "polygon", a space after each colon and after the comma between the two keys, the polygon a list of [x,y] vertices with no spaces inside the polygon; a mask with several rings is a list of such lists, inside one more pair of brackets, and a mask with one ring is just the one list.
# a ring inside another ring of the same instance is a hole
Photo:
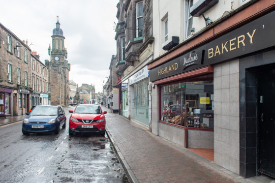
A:
{"label": "dark stone building with pale shopfront, adjoining the bakery's left side", "polygon": [[120,0],[117,7],[119,22],[115,39],[120,114],[149,128],[147,64],[153,60],[152,0]]}

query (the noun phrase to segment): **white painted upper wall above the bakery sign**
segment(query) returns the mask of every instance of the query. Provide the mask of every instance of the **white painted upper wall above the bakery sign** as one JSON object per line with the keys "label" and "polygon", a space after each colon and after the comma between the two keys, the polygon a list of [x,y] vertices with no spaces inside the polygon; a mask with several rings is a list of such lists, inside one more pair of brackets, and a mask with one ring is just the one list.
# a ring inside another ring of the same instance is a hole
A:
{"label": "white painted upper wall above the bakery sign", "polygon": [[[195,4],[198,0],[194,0]],[[247,0],[248,1],[248,0]],[[162,19],[168,14],[168,37],[179,36],[180,43],[185,38],[185,6],[186,0],[153,0],[153,36],[154,36],[154,59],[163,55],[166,51],[162,49],[163,44],[163,22]],[[219,0],[212,8],[204,13],[212,21],[220,19],[240,7],[240,0]],[[193,28],[199,32],[206,28],[203,16],[193,17]],[[190,37],[188,37],[190,38]]]}

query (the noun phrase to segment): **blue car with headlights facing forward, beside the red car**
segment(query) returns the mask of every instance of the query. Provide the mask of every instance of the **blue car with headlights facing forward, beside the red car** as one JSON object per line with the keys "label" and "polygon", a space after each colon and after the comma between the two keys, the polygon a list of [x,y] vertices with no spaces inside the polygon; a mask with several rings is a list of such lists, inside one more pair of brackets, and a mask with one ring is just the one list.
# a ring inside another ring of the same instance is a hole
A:
{"label": "blue car with headlights facing forward, beside the red car", "polygon": [[45,132],[58,134],[61,125],[63,129],[66,127],[66,116],[61,106],[38,105],[31,113],[27,114],[29,116],[24,119],[22,124],[24,135]]}

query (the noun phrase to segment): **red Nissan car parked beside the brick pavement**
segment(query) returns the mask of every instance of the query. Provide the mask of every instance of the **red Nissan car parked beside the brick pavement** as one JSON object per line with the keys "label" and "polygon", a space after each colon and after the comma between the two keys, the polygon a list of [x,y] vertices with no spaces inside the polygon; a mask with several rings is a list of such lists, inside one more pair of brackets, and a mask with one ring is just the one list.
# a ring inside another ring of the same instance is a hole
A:
{"label": "red Nissan car parked beside the brick pavement", "polygon": [[69,119],[69,136],[74,133],[91,133],[96,132],[105,135],[106,120],[102,109],[98,105],[78,104]]}

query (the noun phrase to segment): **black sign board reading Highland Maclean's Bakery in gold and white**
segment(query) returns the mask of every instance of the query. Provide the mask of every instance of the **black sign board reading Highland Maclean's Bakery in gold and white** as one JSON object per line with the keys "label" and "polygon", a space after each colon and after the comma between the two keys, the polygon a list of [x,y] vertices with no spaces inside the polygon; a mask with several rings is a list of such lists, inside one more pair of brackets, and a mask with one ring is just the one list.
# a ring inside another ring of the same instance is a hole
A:
{"label": "black sign board reading Highland Maclean's Bakery in gold and white", "polygon": [[150,81],[238,58],[275,46],[275,11],[150,70]]}

